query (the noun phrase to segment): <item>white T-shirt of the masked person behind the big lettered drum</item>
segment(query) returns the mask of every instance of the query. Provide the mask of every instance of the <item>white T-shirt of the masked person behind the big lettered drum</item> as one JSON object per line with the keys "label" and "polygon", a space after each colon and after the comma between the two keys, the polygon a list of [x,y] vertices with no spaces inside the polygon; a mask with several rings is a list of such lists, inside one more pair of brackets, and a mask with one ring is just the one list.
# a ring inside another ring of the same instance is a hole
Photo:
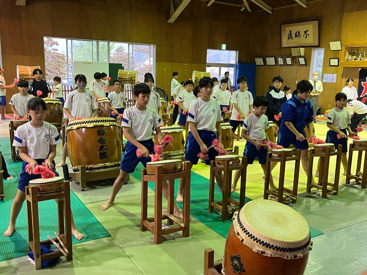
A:
{"label": "white T-shirt of the masked person behind the big lettered drum", "polygon": [[77,90],[70,92],[66,96],[64,107],[70,111],[74,118],[90,118],[93,110],[98,109],[93,95],[87,91],[80,93]]}

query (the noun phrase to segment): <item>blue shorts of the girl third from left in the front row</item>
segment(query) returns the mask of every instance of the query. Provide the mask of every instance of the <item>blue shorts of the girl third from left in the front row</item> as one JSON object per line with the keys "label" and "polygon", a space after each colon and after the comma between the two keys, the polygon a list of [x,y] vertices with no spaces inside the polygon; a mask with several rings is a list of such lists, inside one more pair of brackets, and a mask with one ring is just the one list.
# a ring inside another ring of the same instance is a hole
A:
{"label": "blue shorts of the girl third from left in the front row", "polygon": [[[197,130],[197,132],[199,133],[201,140],[203,140],[204,144],[207,147],[210,147],[213,140],[217,138],[215,132],[206,130]],[[197,164],[197,161],[199,160],[197,154],[199,154],[200,152],[200,145],[199,143],[197,143],[195,137],[190,132],[186,142],[185,161],[190,161],[191,164]],[[215,151],[214,148],[211,148],[207,154],[209,156],[209,159],[205,160],[205,164],[210,165],[210,161],[215,160],[215,157],[217,157],[219,153]]]}

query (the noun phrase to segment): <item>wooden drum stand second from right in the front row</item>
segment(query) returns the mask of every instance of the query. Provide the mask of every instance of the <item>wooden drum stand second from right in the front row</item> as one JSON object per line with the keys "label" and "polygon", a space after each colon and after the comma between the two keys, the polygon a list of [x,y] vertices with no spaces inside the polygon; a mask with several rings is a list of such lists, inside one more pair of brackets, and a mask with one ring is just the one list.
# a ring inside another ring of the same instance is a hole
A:
{"label": "wooden drum stand second from right in the front row", "polygon": [[[335,148],[336,149],[336,148]],[[336,155],[337,156],[337,165],[335,167],[335,178],[334,183],[330,183],[327,181],[328,174],[329,174],[329,165],[330,165],[330,157]],[[313,158],[320,157],[320,168],[319,168],[319,182],[318,184],[312,184],[312,166],[313,166]],[[339,144],[337,150],[331,152],[331,147],[326,146],[325,153],[315,153],[315,149],[310,149],[310,156],[309,156],[309,166],[308,166],[308,173],[307,173],[307,187],[306,192],[310,193],[311,188],[317,188],[318,190],[321,189],[321,198],[327,198],[330,191],[333,195],[338,195],[338,188],[339,188],[339,173],[340,173],[340,163],[342,159],[342,145]],[[331,186],[332,188],[327,188]]]}

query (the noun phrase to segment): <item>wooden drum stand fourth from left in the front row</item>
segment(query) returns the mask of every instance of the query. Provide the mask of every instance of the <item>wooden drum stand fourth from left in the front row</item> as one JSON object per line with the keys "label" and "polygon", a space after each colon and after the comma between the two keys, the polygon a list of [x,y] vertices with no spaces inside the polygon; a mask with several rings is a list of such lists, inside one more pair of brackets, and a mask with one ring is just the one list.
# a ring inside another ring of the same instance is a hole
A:
{"label": "wooden drum stand fourth from left in the front row", "polygon": [[[301,150],[297,149],[297,153],[293,157],[286,157],[286,154],[287,154],[286,151],[281,152],[280,158],[273,158],[271,157],[271,154],[272,153],[268,153],[268,156],[266,157],[264,199],[269,199],[269,195],[273,195],[274,197],[277,198],[278,202],[288,203],[289,201],[292,201],[292,203],[296,203],[298,199],[297,192],[298,192],[299,164],[301,162]],[[287,161],[295,161],[292,190],[284,187],[284,176],[286,173],[286,162]],[[271,162],[280,162],[278,190],[269,189]]]}

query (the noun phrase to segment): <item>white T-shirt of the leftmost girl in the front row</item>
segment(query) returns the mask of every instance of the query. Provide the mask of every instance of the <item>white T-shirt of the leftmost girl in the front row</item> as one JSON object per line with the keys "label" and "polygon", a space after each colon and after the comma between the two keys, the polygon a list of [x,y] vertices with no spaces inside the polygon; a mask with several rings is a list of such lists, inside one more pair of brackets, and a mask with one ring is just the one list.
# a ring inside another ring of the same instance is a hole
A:
{"label": "white T-shirt of the leftmost girl in the front row", "polygon": [[34,128],[30,121],[17,128],[13,146],[26,147],[26,154],[33,159],[46,159],[50,145],[61,143],[59,131],[54,125],[44,121],[41,128]]}

